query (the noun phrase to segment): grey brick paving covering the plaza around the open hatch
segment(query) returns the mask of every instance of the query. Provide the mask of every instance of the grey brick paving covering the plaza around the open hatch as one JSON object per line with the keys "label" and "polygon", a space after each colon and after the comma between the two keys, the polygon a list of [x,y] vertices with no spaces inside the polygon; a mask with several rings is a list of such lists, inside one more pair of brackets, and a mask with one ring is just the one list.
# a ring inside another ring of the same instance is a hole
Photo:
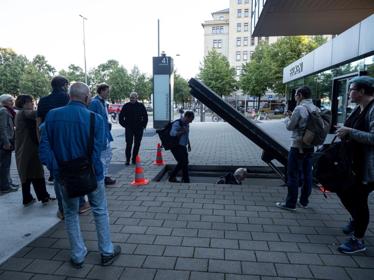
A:
{"label": "grey brick paving covering the plaza around the open hatch", "polygon": [[[259,124],[289,145],[280,121]],[[151,130],[151,128],[147,128]],[[123,163],[123,129],[114,125],[112,163]],[[329,136],[331,140],[331,136]],[[160,166],[157,136],[144,137],[140,157],[146,178]],[[229,124],[191,125],[190,164],[264,166],[261,151]],[[174,164],[170,152],[163,159]],[[131,186],[134,165],[117,174],[106,188],[113,245],[122,254],[110,267],[100,265],[91,211],[80,215],[89,253],[76,269],[61,221],[0,266],[0,279],[373,279],[373,216],[365,234],[367,251],[343,255],[347,236],[341,228],[349,214],[334,194],[313,190],[308,209],[288,212],[275,207],[286,196],[278,186],[222,186],[150,182]],[[373,209],[374,197],[369,198]]]}

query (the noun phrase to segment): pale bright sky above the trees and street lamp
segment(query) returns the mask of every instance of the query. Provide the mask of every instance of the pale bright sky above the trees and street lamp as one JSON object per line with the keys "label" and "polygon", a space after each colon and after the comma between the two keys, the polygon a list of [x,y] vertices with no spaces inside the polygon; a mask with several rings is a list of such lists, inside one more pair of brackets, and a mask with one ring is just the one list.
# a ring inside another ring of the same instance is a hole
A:
{"label": "pale bright sky above the trees and street lamp", "polygon": [[177,71],[189,79],[204,56],[201,24],[212,20],[212,12],[228,7],[229,0],[2,0],[0,47],[29,60],[44,55],[57,71],[71,63],[84,71],[83,15],[88,19],[87,71],[115,59],[128,70],[138,65],[141,72],[152,74],[160,19],[160,52],[173,57]]}

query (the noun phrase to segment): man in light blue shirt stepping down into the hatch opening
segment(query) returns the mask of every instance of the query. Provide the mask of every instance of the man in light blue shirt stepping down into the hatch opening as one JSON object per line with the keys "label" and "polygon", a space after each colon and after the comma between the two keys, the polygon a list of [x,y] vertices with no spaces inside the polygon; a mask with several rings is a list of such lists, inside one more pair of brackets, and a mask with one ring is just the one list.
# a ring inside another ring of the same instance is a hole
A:
{"label": "man in light blue shirt stepping down into the hatch opening", "polygon": [[194,118],[195,114],[192,111],[187,111],[179,121],[173,122],[171,127],[170,136],[179,136],[180,138],[179,145],[170,149],[177,161],[177,165],[170,173],[169,182],[180,183],[175,176],[182,169],[183,183],[190,183],[190,177],[188,177],[188,152],[191,152],[191,145],[188,135],[190,133],[190,123]]}

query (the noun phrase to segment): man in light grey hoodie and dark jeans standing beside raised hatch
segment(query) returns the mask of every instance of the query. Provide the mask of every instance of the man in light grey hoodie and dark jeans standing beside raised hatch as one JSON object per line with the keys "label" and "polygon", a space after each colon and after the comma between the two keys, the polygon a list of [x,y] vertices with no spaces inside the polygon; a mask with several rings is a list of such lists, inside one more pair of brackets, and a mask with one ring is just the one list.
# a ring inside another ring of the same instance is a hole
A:
{"label": "man in light grey hoodie and dark jeans standing beside raised hatch", "polygon": [[[305,106],[311,111],[320,111],[318,107],[313,105],[313,101],[310,99],[311,96],[312,90],[303,85],[298,88],[294,96],[298,106],[293,112],[286,111],[287,108],[285,108],[284,112],[286,129],[292,131],[291,148],[289,149],[287,163],[288,181],[286,185],[288,193],[285,202],[278,202],[276,206],[288,211],[296,211],[296,205],[304,209],[308,208],[308,198],[312,192],[313,174],[310,154],[314,153],[314,146],[308,146],[304,142],[302,142],[302,146],[300,145],[300,137],[306,131],[309,117],[309,111]],[[301,187],[300,199],[298,199],[300,169],[303,186]]]}

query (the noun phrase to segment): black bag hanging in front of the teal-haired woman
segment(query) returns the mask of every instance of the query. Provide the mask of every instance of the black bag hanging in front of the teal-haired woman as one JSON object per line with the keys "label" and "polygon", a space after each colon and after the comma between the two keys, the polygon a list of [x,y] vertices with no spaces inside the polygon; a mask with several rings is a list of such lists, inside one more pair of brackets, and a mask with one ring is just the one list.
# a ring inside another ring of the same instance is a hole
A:
{"label": "black bag hanging in front of the teal-haired woman", "polygon": [[325,191],[332,193],[347,191],[357,185],[357,175],[352,171],[352,158],[347,155],[343,141],[324,144],[312,153],[313,177],[322,184]]}

